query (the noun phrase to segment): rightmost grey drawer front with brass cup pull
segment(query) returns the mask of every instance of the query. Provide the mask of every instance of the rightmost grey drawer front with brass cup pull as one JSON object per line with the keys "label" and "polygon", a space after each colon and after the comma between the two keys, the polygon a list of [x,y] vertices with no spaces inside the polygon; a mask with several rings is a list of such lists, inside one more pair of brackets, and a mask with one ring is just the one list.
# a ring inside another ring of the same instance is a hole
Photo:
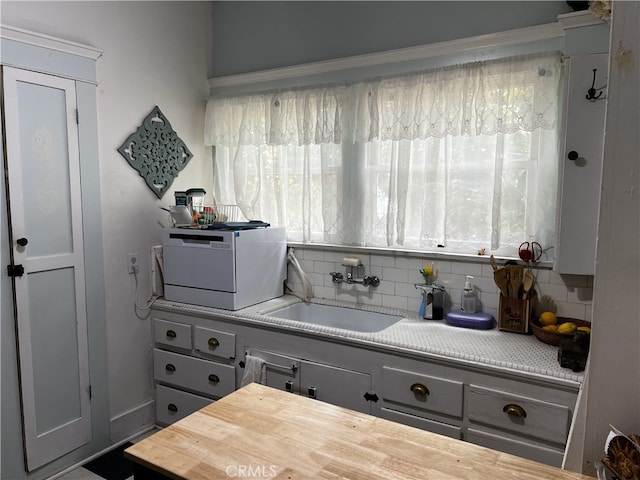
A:
{"label": "rightmost grey drawer front with brass cup pull", "polygon": [[469,420],[564,445],[570,410],[565,405],[471,385]]}

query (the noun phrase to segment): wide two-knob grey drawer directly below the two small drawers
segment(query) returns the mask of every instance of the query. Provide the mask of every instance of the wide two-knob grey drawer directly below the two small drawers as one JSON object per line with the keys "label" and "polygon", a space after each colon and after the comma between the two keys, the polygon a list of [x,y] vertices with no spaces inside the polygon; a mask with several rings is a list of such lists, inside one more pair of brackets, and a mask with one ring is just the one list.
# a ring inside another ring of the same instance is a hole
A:
{"label": "wide two-knob grey drawer directly below the two small drawers", "polygon": [[236,389],[232,365],[153,350],[153,371],[157,381],[187,388],[203,395],[222,397]]}

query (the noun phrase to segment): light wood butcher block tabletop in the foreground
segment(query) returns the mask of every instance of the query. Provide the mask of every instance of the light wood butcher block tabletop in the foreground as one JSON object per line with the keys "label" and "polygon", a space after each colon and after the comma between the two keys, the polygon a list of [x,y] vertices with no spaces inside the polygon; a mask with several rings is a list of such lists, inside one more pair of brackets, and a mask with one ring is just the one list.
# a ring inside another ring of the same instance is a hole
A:
{"label": "light wood butcher block tabletop in the foreground", "polygon": [[136,480],[593,480],[256,383],[124,455]]}

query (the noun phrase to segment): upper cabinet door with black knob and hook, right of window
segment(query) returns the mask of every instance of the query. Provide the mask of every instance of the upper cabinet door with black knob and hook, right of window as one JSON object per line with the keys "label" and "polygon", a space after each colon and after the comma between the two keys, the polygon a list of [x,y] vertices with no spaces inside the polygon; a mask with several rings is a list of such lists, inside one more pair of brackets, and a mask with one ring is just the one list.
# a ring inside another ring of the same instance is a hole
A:
{"label": "upper cabinet door with black knob and hook, right of window", "polygon": [[597,69],[594,87],[607,85],[608,59],[609,54],[602,53],[576,55],[567,60],[565,141],[560,156],[562,188],[555,265],[558,273],[595,273],[607,90],[602,90],[602,96],[596,101],[587,100],[586,95],[593,82],[593,69]]}

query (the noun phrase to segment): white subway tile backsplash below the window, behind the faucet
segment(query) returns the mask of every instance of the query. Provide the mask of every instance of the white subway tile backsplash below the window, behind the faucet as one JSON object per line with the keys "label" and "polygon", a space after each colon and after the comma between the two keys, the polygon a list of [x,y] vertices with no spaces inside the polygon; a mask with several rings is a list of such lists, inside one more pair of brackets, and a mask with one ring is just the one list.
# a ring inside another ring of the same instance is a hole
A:
{"label": "white subway tile backsplash below the window, behind the faucet", "polygon": [[[471,275],[481,310],[497,317],[499,290],[493,281],[493,269],[488,256],[478,257],[478,260],[464,257],[458,261],[450,257],[438,259],[402,252],[345,253],[337,251],[335,247],[323,249],[318,246],[294,246],[293,253],[313,285],[316,298],[417,312],[421,295],[415,284],[423,282],[419,270],[424,265],[433,265],[435,282],[446,290],[445,313],[460,309],[460,295],[466,275]],[[348,267],[342,265],[344,257],[358,257],[363,265],[358,267],[358,276],[375,275],[380,279],[380,285],[374,288],[333,283],[330,272],[340,272],[346,276]],[[498,260],[498,263],[501,261]],[[559,275],[550,267],[534,268],[533,273],[536,278],[534,288],[538,293],[536,314],[549,310],[562,317],[591,321],[592,276]],[[300,275],[291,264],[287,283],[294,291],[303,291]]]}

